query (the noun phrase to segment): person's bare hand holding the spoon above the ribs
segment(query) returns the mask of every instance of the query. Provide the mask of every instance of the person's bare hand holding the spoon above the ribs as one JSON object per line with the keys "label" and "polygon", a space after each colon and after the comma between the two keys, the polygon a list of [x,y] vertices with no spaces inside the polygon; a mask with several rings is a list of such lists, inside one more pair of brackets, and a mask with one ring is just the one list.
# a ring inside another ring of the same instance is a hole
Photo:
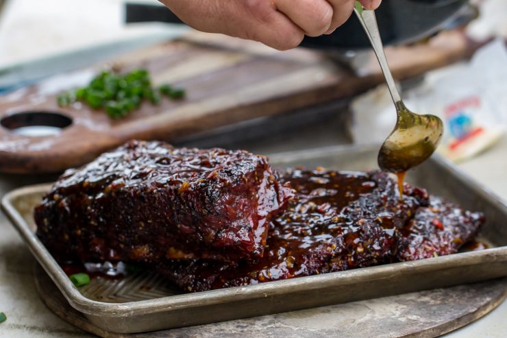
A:
{"label": "person's bare hand holding the spoon above the ribs", "polygon": [[[375,9],[381,0],[360,0]],[[256,40],[286,50],[304,36],[331,34],[349,19],[354,0],[160,0],[190,27]]]}

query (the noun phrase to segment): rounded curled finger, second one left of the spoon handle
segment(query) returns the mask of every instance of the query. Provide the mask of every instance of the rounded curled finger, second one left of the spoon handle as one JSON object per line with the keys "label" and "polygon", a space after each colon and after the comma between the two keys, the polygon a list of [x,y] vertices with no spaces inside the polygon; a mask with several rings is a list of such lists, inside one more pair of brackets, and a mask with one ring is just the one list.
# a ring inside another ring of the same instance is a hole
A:
{"label": "rounded curled finger, second one left of the spoon handle", "polygon": [[333,19],[333,8],[325,0],[275,0],[275,7],[308,36],[322,35]]}

